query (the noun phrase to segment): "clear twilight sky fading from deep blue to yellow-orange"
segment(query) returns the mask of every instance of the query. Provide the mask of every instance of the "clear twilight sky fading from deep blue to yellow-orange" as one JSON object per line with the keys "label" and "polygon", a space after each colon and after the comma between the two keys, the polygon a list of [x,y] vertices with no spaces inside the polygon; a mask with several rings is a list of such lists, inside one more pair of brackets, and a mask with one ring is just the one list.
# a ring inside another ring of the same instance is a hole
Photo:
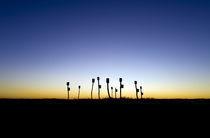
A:
{"label": "clear twilight sky fading from deep blue to yellow-orange", "polygon": [[[1,0],[0,98],[210,98],[209,0]],[[119,93],[118,93],[119,95]],[[97,98],[97,84],[94,86]]]}

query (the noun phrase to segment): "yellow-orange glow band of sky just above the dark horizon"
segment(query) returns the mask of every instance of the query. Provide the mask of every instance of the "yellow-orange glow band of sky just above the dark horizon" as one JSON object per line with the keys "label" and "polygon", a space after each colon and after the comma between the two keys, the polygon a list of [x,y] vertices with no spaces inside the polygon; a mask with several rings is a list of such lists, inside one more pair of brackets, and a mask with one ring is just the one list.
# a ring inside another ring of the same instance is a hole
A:
{"label": "yellow-orange glow band of sky just above the dark horizon", "polygon": [[[24,86],[24,85],[0,85],[0,98],[29,98],[29,99],[44,99],[44,98],[55,98],[55,99],[66,99],[67,90],[65,85],[60,87],[50,87],[48,86]],[[162,90],[161,90],[162,89]],[[90,88],[81,88],[80,99],[90,99]],[[155,88],[143,87],[143,98],[155,98],[155,99],[196,99],[196,98],[210,98],[208,95],[208,88],[203,88],[200,92],[198,89],[194,88],[158,88],[158,91]],[[111,93],[111,89],[110,89]],[[115,94],[113,93],[113,96]],[[72,87],[70,91],[70,99],[77,99],[78,88]],[[126,98],[136,98],[135,88],[127,87],[122,90],[122,96]],[[119,98],[119,90],[117,93]],[[97,86],[94,87],[93,98],[98,99],[98,89]],[[101,89],[101,98],[108,98],[107,89],[102,86]]]}

